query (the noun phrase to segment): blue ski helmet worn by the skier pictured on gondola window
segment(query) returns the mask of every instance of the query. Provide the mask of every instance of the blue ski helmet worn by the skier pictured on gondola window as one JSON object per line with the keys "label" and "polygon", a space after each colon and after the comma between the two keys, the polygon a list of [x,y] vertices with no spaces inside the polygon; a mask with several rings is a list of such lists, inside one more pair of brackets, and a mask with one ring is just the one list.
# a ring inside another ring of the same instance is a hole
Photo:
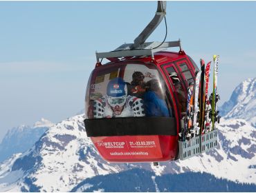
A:
{"label": "blue ski helmet worn by the skier pictured on gondola window", "polygon": [[121,78],[115,78],[107,84],[107,96],[121,97],[127,95],[127,85]]}

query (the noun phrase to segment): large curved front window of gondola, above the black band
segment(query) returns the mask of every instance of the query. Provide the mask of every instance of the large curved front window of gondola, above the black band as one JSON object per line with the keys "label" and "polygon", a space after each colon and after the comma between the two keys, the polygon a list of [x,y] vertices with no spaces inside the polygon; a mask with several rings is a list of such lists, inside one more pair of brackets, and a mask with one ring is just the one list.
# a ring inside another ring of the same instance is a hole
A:
{"label": "large curved front window of gondola, above the black band", "polygon": [[88,119],[171,116],[170,97],[154,65],[96,68],[86,92]]}

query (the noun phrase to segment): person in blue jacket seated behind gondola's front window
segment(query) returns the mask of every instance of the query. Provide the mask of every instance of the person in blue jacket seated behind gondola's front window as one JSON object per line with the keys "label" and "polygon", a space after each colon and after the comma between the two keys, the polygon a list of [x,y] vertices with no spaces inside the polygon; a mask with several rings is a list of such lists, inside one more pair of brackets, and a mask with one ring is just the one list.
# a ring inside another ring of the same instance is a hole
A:
{"label": "person in blue jacket seated behind gondola's front window", "polygon": [[170,116],[159,81],[156,79],[148,81],[146,89],[147,92],[143,96],[146,116]]}

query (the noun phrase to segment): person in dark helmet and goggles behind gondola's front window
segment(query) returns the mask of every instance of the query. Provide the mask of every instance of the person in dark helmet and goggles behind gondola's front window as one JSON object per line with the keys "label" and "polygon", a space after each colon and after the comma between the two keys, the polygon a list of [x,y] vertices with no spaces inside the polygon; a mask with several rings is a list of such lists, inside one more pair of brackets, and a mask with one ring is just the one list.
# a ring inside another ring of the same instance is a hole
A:
{"label": "person in dark helmet and goggles behind gondola's front window", "polygon": [[142,72],[136,71],[132,74],[131,83],[127,83],[128,94],[131,96],[136,96],[140,99],[143,98],[143,94],[146,91],[145,88],[145,76]]}

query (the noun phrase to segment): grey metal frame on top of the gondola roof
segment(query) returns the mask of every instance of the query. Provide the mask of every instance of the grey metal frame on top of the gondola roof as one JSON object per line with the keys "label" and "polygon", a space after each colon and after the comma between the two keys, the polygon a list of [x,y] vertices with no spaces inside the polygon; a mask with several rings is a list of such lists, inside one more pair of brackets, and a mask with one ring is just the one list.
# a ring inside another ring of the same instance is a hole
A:
{"label": "grey metal frame on top of the gondola roof", "polygon": [[181,40],[179,41],[166,41],[166,42],[145,42],[136,49],[131,49],[134,43],[125,43],[120,45],[111,52],[96,52],[97,62],[104,58],[121,58],[121,57],[139,57],[151,56],[154,59],[154,53],[167,50],[167,48],[179,47],[181,49]]}

